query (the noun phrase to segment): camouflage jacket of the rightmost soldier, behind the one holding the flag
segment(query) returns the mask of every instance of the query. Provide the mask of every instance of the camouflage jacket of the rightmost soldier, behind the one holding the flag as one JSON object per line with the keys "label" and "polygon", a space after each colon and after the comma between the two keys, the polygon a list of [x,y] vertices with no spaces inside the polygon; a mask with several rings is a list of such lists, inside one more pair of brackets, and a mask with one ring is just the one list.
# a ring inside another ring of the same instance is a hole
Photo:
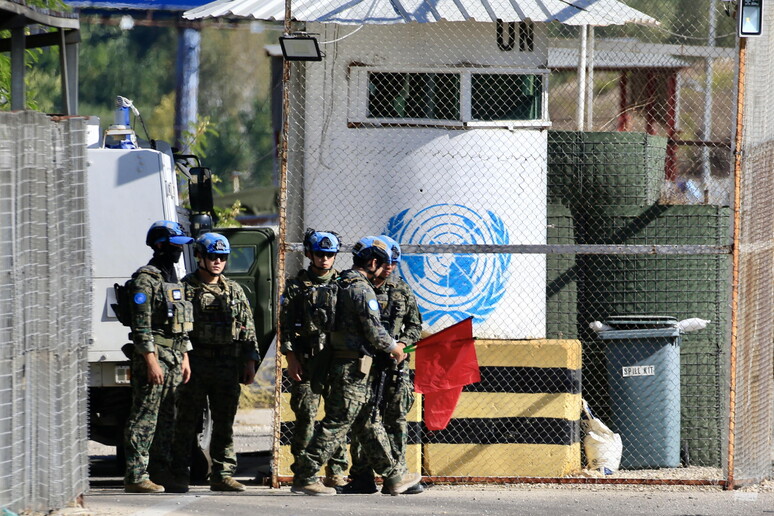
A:
{"label": "camouflage jacket of the rightmost soldier, behind the one holding the flag", "polygon": [[411,287],[400,276],[390,276],[374,287],[379,301],[382,325],[396,341],[410,346],[422,334],[422,314]]}

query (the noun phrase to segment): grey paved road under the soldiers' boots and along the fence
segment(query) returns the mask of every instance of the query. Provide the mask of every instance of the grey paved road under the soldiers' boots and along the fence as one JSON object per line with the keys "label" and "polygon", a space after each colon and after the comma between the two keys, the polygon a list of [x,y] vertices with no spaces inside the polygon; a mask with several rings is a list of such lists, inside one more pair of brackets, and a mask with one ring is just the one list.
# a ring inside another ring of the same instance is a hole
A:
{"label": "grey paved road under the soldiers' boots and along the fence", "polygon": [[[194,486],[189,493],[135,495],[123,492],[112,449],[92,443],[91,489],[85,509],[61,511],[67,516],[182,515],[349,515],[349,514],[492,514],[492,515],[771,515],[774,482],[723,491],[715,487],[632,485],[483,485],[431,486],[421,495],[311,497],[270,489],[262,476],[269,472],[270,411],[238,416],[237,479],[244,493],[213,493]],[[259,450],[259,451],[255,451]]]}

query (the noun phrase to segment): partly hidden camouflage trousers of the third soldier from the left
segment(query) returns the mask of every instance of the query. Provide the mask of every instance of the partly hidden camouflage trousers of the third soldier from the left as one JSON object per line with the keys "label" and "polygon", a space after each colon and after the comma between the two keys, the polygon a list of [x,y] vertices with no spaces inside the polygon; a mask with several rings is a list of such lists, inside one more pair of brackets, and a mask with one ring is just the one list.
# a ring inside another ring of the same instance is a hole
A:
{"label": "partly hidden camouflage trousers of the third soldier from the left", "polygon": [[[296,416],[293,426],[293,438],[290,441],[290,453],[296,459],[312,440],[314,422],[317,419],[317,412],[320,408],[320,395],[312,392],[311,384],[306,379],[309,378],[309,375],[306,373],[305,369],[303,381],[290,381],[290,408]],[[296,465],[297,460],[290,466],[294,473]],[[330,473],[326,472],[326,475],[343,476],[348,466],[346,446],[345,443],[342,443],[341,446],[334,450],[333,455],[328,460],[326,470],[330,470]]]}

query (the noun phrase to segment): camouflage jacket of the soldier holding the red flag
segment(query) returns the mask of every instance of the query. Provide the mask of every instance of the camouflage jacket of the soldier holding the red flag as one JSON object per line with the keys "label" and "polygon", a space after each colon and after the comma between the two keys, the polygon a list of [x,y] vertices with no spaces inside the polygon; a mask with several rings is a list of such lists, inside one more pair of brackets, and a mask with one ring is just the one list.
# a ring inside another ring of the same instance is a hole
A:
{"label": "camouflage jacket of the soldier holding the red flag", "polygon": [[382,326],[379,302],[373,286],[358,271],[346,270],[339,279],[336,303],[336,331],[331,334],[333,349],[373,354],[389,352],[395,340]]}

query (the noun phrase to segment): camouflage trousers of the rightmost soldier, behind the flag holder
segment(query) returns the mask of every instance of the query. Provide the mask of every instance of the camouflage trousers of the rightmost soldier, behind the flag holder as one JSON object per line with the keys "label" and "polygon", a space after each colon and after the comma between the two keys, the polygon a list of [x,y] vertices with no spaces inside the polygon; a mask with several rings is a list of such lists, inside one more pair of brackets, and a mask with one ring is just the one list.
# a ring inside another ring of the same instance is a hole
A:
{"label": "camouflage trousers of the rightmost soldier, behind the flag holder", "polygon": [[[406,466],[406,446],[408,444],[406,415],[414,406],[414,385],[411,382],[408,364],[403,362],[399,367],[398,375],[391,375],[389,371],[387,373],[390,376],[388,376],[388,384],[384,393],[382,424],[387,432],[387,438],[390,440],[393,459],[398,464],[401,473],[406,473],[408,471]],[[369,404],[375,402],[376,400],[370,400]],[[350,476],[352,478],[373,478],[373,468],[368,463],[367,454],[362,449],[357,435],[352,436],[350,453],[352,455]]]}

